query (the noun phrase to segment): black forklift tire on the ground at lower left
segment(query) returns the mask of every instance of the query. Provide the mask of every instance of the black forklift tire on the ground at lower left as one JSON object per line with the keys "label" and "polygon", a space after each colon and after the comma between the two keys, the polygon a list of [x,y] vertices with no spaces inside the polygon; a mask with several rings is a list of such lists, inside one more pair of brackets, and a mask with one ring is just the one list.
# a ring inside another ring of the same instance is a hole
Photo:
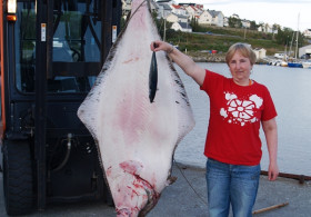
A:
{"label": "black forklift tire on the ground at lower left", "polygon": [[3,142],[3,193],[9,216],[24,215],[33,206],[33,178],[30,147],[27,141]]}

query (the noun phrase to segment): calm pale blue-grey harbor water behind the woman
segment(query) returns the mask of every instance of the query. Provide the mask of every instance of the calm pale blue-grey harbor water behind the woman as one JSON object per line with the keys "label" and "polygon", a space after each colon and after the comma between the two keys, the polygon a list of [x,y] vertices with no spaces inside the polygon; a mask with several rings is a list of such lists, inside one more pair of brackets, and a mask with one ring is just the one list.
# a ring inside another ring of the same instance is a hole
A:
{"label": "calm pale blue-grey harbor water behind the woman", "polygon": [[[225,63],[199,65],[231,77]],[[174,159],[178,162],[204,168],[207,158],[203,150],[210,116],[209,97],[178,66],[175,68],[185,86],[195,127],[179,144]],[[251,79],[268,87],[278,111],[280,171],[311,176],[311,69],[255,65]],[[260,136],[263,152],[261,169],[268,170],[269,156],[262,129]]]}

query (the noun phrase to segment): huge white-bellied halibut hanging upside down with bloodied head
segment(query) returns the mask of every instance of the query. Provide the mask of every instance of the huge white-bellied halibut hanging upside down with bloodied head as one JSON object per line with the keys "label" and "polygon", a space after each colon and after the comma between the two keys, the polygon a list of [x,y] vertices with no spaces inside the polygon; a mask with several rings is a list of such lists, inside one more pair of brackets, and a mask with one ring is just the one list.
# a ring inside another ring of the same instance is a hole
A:
{"label": "huge white-bellied halibut hanging upside down with bloodied head", "polygon": [[163,51],[158,88],[149,98],[150,43],[159,40],[149,2],[132,14],[78,110],[100,152],[118,216],[144,216],[170,184],[172,156],[194,120],[184,87]]}

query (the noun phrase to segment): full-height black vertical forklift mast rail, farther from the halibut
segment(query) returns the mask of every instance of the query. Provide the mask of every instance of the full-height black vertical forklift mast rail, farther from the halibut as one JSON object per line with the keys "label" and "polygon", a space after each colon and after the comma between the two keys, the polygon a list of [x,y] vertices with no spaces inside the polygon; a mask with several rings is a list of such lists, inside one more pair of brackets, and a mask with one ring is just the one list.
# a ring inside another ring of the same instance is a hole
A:
{"label": "full-height black vertical forklift mast rail, farther from the halibut", "polygon": [[[52,1],[49,1],[50,3]],[[46,165],[46,125],[47,125],[47,73],[42,73],[48,69],[47,59],[49,59],[49,52],[47,49],[47,41],[50,41],[50,34],[44,36],[44,28],[47,29],[48,17],[50,17],[50,10],[47,6],[48,1],[37,1],[37,20],[36,20],[36,118],[34,118],[34,151],[37,157],[37,186],[38,186],[38,209],[43,210],[46,208],[47,198],[47,165]],[[49,3],[49,6],[50,6]],[[46,16],[44,16],[46,14]],[[50,23],[48,23],[49,29]],[[41,30],[41,31],[38,31]],[[48,30],[48,32],[50,32]],[[42,36],[41,36],[42,34]],[[47,58],[41,53],[47,53]]]}

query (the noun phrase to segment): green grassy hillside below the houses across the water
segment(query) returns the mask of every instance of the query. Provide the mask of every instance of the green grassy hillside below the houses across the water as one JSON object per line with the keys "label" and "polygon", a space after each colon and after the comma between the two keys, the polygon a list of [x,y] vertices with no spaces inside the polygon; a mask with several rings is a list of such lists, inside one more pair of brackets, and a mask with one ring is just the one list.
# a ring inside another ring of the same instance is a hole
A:
{"label": "green grassy hillside below the houses across the water", "polygon": [[167,31],[167,41],[178,45],[181,51],[200,55],[202,50],[217,50],[225,53],[229,47],[235,42],[250,43],[252,48],[264,48],[267,56],[283,52],[285,47],[273,40],[272,33],[263,33],[252,30],[205,27],[204,32],[175,32]]}

